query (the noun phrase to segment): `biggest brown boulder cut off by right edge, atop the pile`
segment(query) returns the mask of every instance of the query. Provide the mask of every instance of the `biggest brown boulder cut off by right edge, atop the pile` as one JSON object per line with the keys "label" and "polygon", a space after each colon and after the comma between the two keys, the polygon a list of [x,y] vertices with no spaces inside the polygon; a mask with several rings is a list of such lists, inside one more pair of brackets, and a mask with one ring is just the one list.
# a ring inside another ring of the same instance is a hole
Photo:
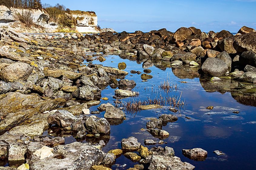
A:
{"label": "biggest brown boulder cut off by right edge, atop the pile", "polygon": [[252,51],[256,53],[256,32],[239,36],[233,43],[238,53]]}

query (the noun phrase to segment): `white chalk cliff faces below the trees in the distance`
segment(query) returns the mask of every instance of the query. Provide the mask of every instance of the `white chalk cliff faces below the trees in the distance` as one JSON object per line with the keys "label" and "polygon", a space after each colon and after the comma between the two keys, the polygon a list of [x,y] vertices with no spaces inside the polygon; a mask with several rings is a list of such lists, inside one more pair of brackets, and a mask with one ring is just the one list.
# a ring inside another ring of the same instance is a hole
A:
{"label": "white chalk cliff faces below the trees in the distance", "polygon": [[[37,30],[36,28],[21,28],[17,14],[22,14],[22,12],[26,11],[31,11],[33,22],[43,27],[45,32],[58,32],[59,25],[50,21],[49,15],[44,10],[7,8],[3,5],[0,5],[0,27],[12,27],[18,32],[39,32],[39,29]],[[70,11],[70,14],[76,18],[76,31],[81,33],[99,33],[99,30],[96,28],[98,19],[94,12]],[[40,32],[42,32],[42,29]]]}

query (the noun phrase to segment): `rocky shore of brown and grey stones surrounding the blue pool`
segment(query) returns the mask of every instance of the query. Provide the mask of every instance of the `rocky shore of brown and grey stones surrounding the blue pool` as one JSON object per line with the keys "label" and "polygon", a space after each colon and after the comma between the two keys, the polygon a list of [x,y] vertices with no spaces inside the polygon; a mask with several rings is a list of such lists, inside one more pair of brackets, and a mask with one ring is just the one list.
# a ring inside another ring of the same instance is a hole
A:
{"label": "rocky shore of brown and grey stones surrounding the blue pool", "polygon": [[[149,33],[108,31],[57,36],[21,34],[3,28],[0,31],[0,153],[10,165],[0,169],[108,170],[122,154],[138,163],[129,168],[133,170],[195,168],[175,156],[173,148],[149,149],[132,136],[119,141],[120,149],[103,152],[111,125],[122,123],[125,112],[110,103],[101,104],[97,113],[105,111],[105,114],[100,118],[88,108],[100,104],[101,91],[108,85],[119,87],[115,90],[116,98],[139,94],[132,91],[136,82],[125,79],[128,72],[121,70],[125,63],[113,68],[85,65],[85,60],[103,62],[107,54],[115,52],[137,59],[145,69],[153,62],[173,68],[189,65],[201,67],[198,73],[212,83],[227,77],[256,83],[256,31],[248,27],[242,27],[236,35],[226,30],[204,33],[194,27],[181,27],[175,33],[161,29]],[[67,43],[87,48],[71,51],[65,47]],[[141,74],[134,70],[143,81],[152,78],[146,74],[150,72],[145,70]],[[160,107],[141,106],[141,110]],[[158,119],[148,121],[146,128],[152,136],[165,138],[169,133],[162,127],[177,120],[172,114],[161,114]],[[50,127],[63,134],[76,134],[77,141],[86,136],[96,140],[65,144],[65,138],[53,130],[51,134],[43,134]],[[145,140],[147,145],[155,143]],[[194,160],[207,157],[207,151],[201,148],[186,148],[182,153]]]}

